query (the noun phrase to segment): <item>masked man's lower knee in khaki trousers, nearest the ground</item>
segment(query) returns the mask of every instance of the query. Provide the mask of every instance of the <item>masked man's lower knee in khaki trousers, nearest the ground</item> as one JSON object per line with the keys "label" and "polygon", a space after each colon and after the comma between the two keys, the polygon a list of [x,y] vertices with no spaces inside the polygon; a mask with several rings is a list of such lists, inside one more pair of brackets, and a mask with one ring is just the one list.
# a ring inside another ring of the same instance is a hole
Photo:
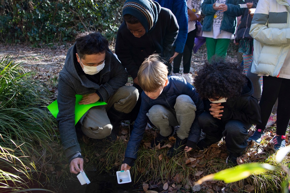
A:
{"label": "masked man's lower knee in khaki trousers, nearest the ground", "polygon": [[93,139],[103,139],[111,134],[113,126],[111,124],[104,125],[103,127],[90,128],[85,125],[81,126],[82,132]]}

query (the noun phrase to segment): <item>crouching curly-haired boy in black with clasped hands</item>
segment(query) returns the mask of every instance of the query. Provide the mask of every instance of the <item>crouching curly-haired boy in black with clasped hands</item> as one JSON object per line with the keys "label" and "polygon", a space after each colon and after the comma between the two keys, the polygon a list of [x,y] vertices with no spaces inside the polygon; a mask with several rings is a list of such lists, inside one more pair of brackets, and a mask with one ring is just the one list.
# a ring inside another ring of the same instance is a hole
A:
{"label": "crouching curly-haired boy in black with clasped hands", "polygon": [[195,77],[195,88],[204,99],[204,112],[198,122],[205,138],[197,143],[203,150],[225,136],[230,152],[226,163],[237,164],[246,149],[248,129],[261,123],[260,106],[253,95],[253,84],[238,64],[214,56]]}

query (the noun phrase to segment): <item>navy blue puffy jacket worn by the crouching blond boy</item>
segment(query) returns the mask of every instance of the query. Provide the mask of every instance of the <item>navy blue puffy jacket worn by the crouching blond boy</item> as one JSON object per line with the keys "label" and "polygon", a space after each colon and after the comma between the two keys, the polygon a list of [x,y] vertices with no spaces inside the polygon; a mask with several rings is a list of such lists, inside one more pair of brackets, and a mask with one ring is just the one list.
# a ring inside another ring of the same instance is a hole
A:
{"label": "navy blue puffy jacket worn by the crouching blond boy", "polygon": [[191,84],[186,82],[183,77],[168,76],[168,82],[168,85],[164,87],[162,93],[155,100],[149,98],[144,93],[144,91],[142,92],[142,103],[140,111],[137,119],[135,120],[134,129],[132,131],[130,140],[126,148],[125,159],[123,163],[127,163],[129,166],[132,166],[135,159],[137,159],[137,151],[139,149],[139,145],[143,138],[143,134],[148,122],[148,117],[146,113],[148,113],[149,109],[157,104],[163,105],[170,109],[174,109],[176,98],[179,95],[190,96],[196,106],[195,119],[191,126],[187,145],[188,143],[190,143],[190,141],[193,141],[195,143],[199,141],[201,129],[199,126],[196,125],[198,125],[198,116],[204,111],[202,99],[195,92],[195,88]]}

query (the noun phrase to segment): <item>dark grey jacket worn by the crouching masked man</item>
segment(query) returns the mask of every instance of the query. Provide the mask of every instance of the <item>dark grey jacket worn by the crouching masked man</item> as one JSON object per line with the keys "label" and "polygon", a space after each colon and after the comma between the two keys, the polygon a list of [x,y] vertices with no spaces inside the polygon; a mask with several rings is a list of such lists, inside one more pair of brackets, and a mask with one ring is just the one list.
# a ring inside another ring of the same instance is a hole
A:
{"label": "dark grey jacket worn by the crouching masked man", "polygon": [[110,50],[106,52],[105,66],[99,72],[99,80],[96,80],[98,84],[89,80],[83,72],[78,73],[77,65],[76,46],[73,45],[68,49],[64,68],[59,73],[57,95],[57,121],[62,146],[68,158],[81,152],[75,131],[75,95],[96,92],[100,100],[106,101],[128,81],[128,73]]}

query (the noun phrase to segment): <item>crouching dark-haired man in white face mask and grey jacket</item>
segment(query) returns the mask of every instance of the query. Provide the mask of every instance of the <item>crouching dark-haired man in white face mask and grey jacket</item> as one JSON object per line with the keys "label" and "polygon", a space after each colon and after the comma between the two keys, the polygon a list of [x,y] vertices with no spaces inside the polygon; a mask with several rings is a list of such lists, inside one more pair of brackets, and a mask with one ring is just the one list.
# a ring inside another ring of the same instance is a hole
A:
{"label": "crouching dark-haired man in white face mask and grey jacket", "polygon": [[77,34],[59,73],[57,95],[57,121],[70,172],[77,174],[84,168],[75,128],[75,95],[83,96],[79,104],[107,103],[90,108],[81,117],[81,131],[94,139],[108,136],[115,140],[119,122],[131,112],[139,96],[135,87],[124,86],[127,81],[128,74],[109,49],[106,38],[99,32]]}

